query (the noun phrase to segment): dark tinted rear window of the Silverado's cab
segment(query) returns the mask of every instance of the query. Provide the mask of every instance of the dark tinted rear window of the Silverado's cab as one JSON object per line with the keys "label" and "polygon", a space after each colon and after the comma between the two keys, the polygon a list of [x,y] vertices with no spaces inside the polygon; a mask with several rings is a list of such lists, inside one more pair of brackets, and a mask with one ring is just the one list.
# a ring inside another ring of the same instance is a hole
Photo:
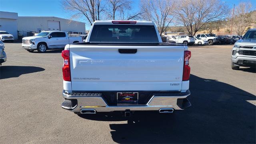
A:
{"label": "dark tinted rear window of the Silverado's cab", "polygon": [[90,42],[158,42],[154,26],[94,25]]}

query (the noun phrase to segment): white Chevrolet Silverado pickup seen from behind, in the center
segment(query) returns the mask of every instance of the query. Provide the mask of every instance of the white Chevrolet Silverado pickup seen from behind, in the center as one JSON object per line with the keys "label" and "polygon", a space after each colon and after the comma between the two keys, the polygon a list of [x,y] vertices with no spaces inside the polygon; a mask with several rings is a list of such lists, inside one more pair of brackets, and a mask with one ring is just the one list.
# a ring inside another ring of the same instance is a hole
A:
{"label": "white Chevrolet Silverado pickup seen from behind, in the center", "polygon": [[191,106],[191,52],[162,43],[153,22],[95,21],[86,42],[66,45],[62,57],[62,108],[78,115]]}

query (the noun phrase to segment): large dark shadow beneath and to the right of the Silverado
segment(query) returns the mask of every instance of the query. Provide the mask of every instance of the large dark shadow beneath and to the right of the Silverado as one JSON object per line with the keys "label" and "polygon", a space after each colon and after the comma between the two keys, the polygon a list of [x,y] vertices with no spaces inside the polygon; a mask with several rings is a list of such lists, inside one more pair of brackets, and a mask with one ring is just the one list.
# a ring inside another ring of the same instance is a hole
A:
{"label": "large dark shadow beneath and to the right of the Silverado", "polygon": [[[86,119],[123,121],[110,124],[117,143],[255,143],[256,100],[245,92],[218,80],[191,75],[188,97],[192,106],[174,114],[136,112],[124,118],[119,113],[86,115]],[[89,117],[88,117],[89,116]]]}

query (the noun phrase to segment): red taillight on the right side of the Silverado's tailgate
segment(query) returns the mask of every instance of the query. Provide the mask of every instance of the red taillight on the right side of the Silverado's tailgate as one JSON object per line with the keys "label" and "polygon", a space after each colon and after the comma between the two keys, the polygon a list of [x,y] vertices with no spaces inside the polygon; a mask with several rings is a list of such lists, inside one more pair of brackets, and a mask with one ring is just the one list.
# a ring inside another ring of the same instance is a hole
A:
{"label": "red taillight on the right side of the Silverado's tailgate", "polygon": [[191,58],[190,51],[184,51],[184,66],[183,66],[183,81],[189,80],[190,77],[190,66],[189,66],[189,59]]}

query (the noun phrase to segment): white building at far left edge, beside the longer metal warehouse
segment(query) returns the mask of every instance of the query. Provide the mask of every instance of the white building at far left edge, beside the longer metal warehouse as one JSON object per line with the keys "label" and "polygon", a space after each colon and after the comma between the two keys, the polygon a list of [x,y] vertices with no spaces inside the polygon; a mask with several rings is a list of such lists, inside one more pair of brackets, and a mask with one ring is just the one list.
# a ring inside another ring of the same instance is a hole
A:
{"label": "white building at far left edge, beside the longer metal warehouse", "polygon": [[0,11],[0,31],[6,31],[18,39],[17,28],[18,13]]}

